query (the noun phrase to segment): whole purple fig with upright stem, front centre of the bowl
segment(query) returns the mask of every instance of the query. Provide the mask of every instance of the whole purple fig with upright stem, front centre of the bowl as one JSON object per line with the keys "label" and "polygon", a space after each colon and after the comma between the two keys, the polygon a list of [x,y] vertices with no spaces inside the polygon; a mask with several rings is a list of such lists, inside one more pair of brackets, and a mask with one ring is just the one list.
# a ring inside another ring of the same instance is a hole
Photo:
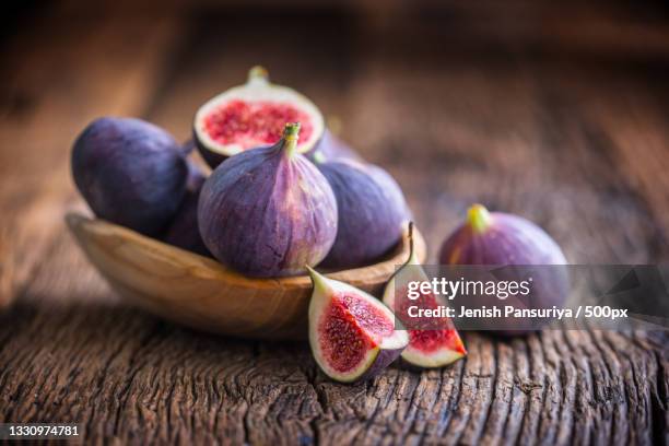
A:
{"label": "whole purple fig with upright stem, front centre of the bowl", "polygon": [[204,181],[200,234],[221,262],[251,277],[304,273],[337,235],[337,201],[328,180],[297,153],[300,124],[286,124],[270,148],[232,156]]}

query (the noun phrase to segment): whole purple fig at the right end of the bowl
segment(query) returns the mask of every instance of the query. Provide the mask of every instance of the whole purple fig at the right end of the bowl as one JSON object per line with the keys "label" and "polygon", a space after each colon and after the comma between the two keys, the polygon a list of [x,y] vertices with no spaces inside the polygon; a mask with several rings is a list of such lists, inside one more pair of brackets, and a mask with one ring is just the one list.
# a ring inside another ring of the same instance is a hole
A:
{"label": "whole purple fig at the right end of the bowl", "polygon": [[[317,163],[337,198],[337,238],[322,261],[331,269],[373,263],[395,247],[402,236],[406,204],[396,202],[355,161]],[[401,192],[400,192],[401,193]]]}

